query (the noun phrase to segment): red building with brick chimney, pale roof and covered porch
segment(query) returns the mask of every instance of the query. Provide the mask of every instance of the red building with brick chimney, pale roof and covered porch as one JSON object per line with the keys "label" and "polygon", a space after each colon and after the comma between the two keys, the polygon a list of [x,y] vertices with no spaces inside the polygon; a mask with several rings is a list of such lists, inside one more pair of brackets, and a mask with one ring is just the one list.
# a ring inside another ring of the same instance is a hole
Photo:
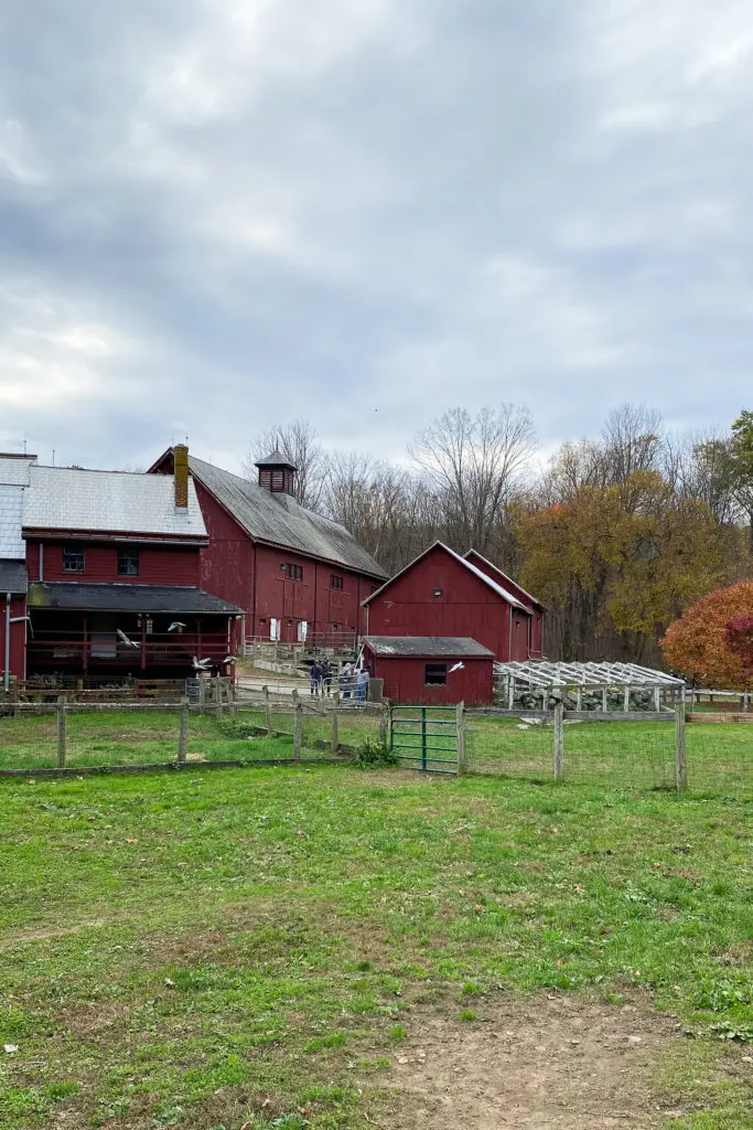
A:
{"label": "red building with brick chimney, pale roof and covered porch", "polygon": [[163,479],[0,457],[0,515],[6,687],[11,675],[185,677],[194,657],[228,672],[240,610],[199,586],[208,537],[187,451]]}

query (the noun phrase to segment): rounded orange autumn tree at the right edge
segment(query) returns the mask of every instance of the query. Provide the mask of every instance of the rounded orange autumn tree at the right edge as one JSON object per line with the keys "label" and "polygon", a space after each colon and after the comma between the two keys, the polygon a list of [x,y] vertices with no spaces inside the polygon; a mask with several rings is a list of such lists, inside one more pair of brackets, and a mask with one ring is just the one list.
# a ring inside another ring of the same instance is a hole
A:
{"label": "rounded orange autumn tree at the right edge", "polygon": [[748,616],[753,616],[753,581],[710,592],[667,628],[660,641],[667,663],[709,687],[748,689],[750,664],[738,649],[730,649],[728,632],[732,620]]}

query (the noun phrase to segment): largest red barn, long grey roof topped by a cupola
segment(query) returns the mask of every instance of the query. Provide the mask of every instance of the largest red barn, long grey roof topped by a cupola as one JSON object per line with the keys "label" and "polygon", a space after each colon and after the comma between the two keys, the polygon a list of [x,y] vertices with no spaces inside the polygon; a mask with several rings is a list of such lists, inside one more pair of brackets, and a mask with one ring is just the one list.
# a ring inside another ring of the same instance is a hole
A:
{"label": "largest red barn, long grey roof topped by a cupola", "polygon": [[[354,643],[362,601],[387,574],[344,527],[296,502],[296,468],[273,452],[251,483],[194,455],[189,462],[209,533],[201,583],[243,609],[245,636]],[[170,449],[150,470],[173,466]]]}

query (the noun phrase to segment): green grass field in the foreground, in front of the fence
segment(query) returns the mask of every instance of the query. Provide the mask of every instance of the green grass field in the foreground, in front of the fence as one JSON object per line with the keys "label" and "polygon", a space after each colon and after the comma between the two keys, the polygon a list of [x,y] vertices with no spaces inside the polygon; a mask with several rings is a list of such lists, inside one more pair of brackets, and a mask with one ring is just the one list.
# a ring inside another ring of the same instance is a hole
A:
{"label": "green grass field in the foreground, in front of the fence", "polygon": [[[585,1095],[589,1032],[650,1046],[614,1051],[619,1124],[753,1124],[743,799],[198,766],[3,781],[0,809],[1,1130],[491,1125],[469,1049],[559,1055]],[[455,1107],[417,1098],[455,1053]],[[509,1124],[612,1124],[557,1110]]]}

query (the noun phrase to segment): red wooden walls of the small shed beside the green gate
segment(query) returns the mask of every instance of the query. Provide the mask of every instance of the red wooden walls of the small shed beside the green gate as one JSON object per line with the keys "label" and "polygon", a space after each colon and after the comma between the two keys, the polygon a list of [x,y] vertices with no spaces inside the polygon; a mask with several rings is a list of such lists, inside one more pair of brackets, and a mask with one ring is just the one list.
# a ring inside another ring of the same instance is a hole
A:
{"label": "red wooden walls of the small shed beside the green gate", "polygon": [[[408,657],[375,655],[367,645],[369,670],[374,678],[384,679],[384,695],[394,703],[445,705],[464,702],[469,706],[490,706],[493,698],[493,660],[463,659],[463,669],[449,673],[457,660],[414,659]],[[447,664],[447,684],[444,687],[426,686],[427,663]]]}

